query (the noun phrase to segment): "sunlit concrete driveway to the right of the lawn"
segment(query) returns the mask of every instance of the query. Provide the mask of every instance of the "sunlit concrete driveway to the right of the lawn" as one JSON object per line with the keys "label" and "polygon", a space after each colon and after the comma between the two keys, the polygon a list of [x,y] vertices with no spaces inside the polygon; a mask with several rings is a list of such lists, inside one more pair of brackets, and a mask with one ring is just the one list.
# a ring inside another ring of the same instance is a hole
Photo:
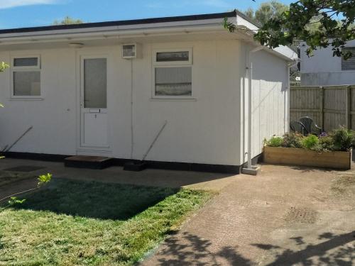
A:
{"label": "sunlit concrete driveway to the right of the lawn", "polygon": [[355,174],[263,165],[143,265],[355,265]]}

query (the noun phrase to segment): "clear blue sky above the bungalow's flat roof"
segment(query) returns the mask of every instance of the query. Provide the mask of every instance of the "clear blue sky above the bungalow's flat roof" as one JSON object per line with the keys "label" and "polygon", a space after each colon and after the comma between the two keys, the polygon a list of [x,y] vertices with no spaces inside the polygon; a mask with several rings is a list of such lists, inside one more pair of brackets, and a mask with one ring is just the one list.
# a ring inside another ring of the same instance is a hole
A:
{"label": "clear blue sky above the bungalow's flat roof", "polygon": [[[65,16],[85,22],[256,9],[256,0],[0,0],[0,28],[50,25]],[[291,0],[283,0],[289,4]]]}

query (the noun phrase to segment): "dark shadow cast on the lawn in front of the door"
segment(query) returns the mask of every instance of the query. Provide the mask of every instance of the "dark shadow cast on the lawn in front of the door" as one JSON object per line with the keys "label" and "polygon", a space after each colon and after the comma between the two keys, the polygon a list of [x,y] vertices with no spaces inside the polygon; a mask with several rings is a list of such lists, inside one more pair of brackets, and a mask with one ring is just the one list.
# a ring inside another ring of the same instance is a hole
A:
{"label": "dark shadow cast on the lawn in front of the door", "polygon": [[53,179],[48,187],[23,196],[26,202],[16,208],[124,221],[177,193],[178,190]]}

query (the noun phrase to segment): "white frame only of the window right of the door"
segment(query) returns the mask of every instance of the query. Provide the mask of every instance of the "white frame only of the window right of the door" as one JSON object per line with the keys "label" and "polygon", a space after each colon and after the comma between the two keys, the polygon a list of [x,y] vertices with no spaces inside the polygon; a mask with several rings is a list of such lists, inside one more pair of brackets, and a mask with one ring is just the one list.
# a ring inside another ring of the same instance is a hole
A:
{"label": "white frame only of the window right of the door", "polygon": [[[170,61],[170,62],[157,62],[156,55],[158,52],[189,52],[188,61]],[[155,68],[160,67],[191,67],[192,79],[193,79],[193,52],[192,48],[175,48],[175,49],[154,49],[152,52],[152,99],[194,99],[193,97],[193,88],[191,81],[191,95],[190,96],[161,96],[155,95]]]}

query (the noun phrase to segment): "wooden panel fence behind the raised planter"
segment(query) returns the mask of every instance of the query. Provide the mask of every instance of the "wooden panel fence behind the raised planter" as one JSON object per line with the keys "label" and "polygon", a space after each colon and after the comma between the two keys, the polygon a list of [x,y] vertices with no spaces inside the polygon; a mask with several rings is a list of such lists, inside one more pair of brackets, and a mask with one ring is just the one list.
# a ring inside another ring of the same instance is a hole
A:
{"label": "wooden panel fence behind the raised planter", "polygon": [[323,131],[339,126],[355,130],[355,85],[290,89],[290,121],[310,116]]}

